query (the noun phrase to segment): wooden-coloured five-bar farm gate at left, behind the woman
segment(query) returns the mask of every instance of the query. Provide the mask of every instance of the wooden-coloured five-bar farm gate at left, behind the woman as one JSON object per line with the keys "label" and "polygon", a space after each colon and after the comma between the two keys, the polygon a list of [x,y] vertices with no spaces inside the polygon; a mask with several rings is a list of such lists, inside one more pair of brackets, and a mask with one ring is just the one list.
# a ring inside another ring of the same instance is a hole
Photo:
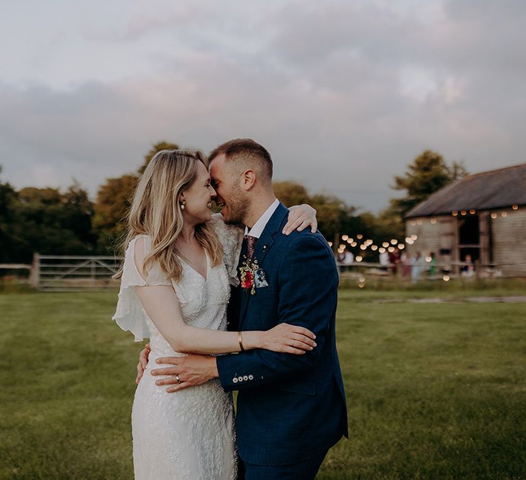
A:
{"label": "wooden-coloured five-bar farm gate at left, behind the woman", "polygon": [[40,291],[115,289],[112,275],[122,263],[118,256],[69,256],[35,254],[32,277]]}

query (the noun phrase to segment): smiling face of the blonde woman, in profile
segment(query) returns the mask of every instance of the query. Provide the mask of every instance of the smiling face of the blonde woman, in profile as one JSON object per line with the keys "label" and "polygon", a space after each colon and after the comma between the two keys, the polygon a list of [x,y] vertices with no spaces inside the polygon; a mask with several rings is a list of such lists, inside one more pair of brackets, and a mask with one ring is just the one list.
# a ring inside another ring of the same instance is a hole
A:
{"label": "smiling face of the blonde woman, in profile", "polygon": [[181,193],[181,199],[186,200],[183,211],[184,220],[194,225],[210,220],[210,202],[215,195],[216,191],[210,185],[208,170],[201,162],[197,162],[195,181]]}

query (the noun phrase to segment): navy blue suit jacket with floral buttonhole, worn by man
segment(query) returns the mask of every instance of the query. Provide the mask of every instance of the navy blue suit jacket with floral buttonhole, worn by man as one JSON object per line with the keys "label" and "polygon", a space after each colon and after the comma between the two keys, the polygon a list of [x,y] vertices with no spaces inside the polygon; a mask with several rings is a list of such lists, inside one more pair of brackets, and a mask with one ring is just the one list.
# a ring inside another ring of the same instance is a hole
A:
{"label": "navy blue suit jacket with floral buttonhole, worn by man", "polygon": [[317,346],[304,355],[250,350],[217,358],[223,387],[239,390],[238,451],[251,464],[296,463],[347,436],[336,352],[334,255],[319,232],[283,235],[287,218],[287,208],[279,204],[255,246],[253,261],[265,272],[268,287],[254,295],[240,287],[234,291],[237,324],[242,331],[281,322],[305,326],[316,334]]}

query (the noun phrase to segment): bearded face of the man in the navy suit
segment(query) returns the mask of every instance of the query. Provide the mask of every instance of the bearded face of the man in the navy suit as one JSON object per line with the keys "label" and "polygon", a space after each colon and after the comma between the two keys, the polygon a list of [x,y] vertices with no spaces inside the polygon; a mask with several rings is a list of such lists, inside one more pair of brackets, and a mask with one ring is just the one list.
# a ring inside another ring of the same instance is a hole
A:
{"label": "bearded face of the man in the navy suit", "polygon": [[249,202],[242,190],[234,165],[227,163],[225,155],[218,155],[210,163],[210,178],[217,192],[216,204],[221,206],[225,224],[243,224],[249,210]]}

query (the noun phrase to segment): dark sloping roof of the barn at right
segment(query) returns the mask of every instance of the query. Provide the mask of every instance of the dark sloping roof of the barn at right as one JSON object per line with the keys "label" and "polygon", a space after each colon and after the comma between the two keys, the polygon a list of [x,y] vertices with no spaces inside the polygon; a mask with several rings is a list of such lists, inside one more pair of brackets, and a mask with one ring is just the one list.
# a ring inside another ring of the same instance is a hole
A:
{"label": "dark sloping roof of the barn at right", "polygon": [[526,205],[526,163],[468,175],[440,189],[412,208],[405,218],[453,211],[491,210]]}

